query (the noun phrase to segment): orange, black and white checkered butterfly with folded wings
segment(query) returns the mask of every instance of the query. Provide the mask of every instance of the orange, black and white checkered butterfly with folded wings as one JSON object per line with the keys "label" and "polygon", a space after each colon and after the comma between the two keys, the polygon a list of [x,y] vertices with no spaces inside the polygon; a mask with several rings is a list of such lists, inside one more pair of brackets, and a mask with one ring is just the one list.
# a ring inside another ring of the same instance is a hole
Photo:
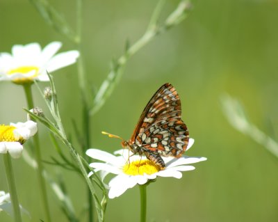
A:
{"label": "orange, black and white checkered butterfly with folded wings", "polygon": [[[108,136],[120,138],[113,134]],[[181,157],[188,141],[189,132],[181,120],[179,94],[171,84],[164,84],[142,111],[129,141],[122,139],[122,147],[128,148],[133,154],[144,154],[163,169],[165,163],[161,157]]]}

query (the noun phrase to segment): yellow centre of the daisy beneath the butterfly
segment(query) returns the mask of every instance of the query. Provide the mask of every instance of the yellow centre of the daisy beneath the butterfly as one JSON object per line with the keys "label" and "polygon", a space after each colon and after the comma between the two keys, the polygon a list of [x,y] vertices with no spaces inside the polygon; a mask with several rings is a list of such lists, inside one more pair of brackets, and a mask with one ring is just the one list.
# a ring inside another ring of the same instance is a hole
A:
{"label": "yellow centre of the daisy beneath the butterfly", "polygon": [[123,168],[124,173],[127,175],[144,175],[144,173],[151,175],[160,171],[159,166],[154,164],[149,159],[136,160],[131,163],[126,163]]}

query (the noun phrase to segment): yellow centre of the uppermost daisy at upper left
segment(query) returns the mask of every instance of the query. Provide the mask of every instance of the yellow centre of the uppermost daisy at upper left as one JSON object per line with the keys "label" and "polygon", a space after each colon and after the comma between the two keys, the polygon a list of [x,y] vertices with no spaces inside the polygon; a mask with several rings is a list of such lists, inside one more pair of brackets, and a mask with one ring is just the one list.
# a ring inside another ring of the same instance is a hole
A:
{"label": "yellow centre of the uppermost daisy at upper left", "polygon": [[31,65],[30,66],[21,66],[21,67],[8,71],[8,74],[15,74],[15,73],[27,74],[31,71],[35,71],[35,72],[30,77],[20,77],[20,78],[13,79],[13,82],[15,84],[26,84],[26,83],[32,82],[33,78],[38,76],[38,71],[39,71],[38,67],[31,66]]}

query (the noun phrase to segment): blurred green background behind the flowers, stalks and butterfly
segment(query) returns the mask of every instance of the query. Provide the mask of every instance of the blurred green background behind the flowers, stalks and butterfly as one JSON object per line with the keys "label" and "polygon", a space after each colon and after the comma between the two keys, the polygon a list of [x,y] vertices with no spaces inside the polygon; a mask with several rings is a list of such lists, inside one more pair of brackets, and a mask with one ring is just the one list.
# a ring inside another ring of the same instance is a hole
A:
{"label": "blurred green background behind the flowers, stalks and butterfly", "polygon": [[[75,27],[76,1],[50,1]],[[157,1],[88,1],[83,12],[83,53],[92,90],[106,78],[111,58],[144,33]],[[167,1],[167,15],[179,1]],[[56,33],[29,1],[0,1],[0,51],[15,44],[63,42],[60,51],[74,49]],[[278,141],[278,1],[193,1],[188,19],[133,56],[120,84],[104,107],[92,118],[92,147],[113,152],[120,141],[101,135],[105,130],[129,138],[140,113],[153,93],[165,82],[177,88],[183,120],[195,145],[186,154],[207,157],[181,180],[158,178],[147,188],[147,221],[278,221],[278,159],[251,138],[229,125],[222,113],[220,96],[237,97],[263,132]],[[76,65],[54,73],[61,116],[73,135],[72,119],[81,125],[81,97],[76,84]],[[47,84],[40,84],[44,87]],[[46,109],[33,87],[35,103]],[[0,83],[0,122],[26,120],[23,89]],[[55,156],[48,132],[40,125],[43,159]],[[26,144],[26,149],[28,145]],[[81,221],[85,183],[57,166],[47,171],[63,177]],[[23,159],[13,160],[17,191],[31,221],[43,216],[35,171]],[[8,191],[0,159],[0,190]],[[56,196],[48,187],[53,221],[67,221]],[[139,221],[139,189],[109,200],[106,221]],[[28,221],[28,217],[24,217]],[[12,221],[0,213],[0,221]]]}

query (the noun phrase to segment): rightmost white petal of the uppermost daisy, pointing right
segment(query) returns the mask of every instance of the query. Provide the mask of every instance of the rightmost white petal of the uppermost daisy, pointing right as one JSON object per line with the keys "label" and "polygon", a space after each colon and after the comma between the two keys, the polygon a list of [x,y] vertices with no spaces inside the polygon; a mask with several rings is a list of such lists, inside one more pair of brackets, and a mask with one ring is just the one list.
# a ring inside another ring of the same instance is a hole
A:
{"label": "rightmost white petal of the uppermost daisy, pointing right", "polygon": [[49,63],[47,63],[47,71],[53,72],[67,65],[72,65],[73,63],[76,62],[76,59],[78,57],[79,57],[79,51],[76,50],[66,51],[57,54],[56,56],[50,59]]}

